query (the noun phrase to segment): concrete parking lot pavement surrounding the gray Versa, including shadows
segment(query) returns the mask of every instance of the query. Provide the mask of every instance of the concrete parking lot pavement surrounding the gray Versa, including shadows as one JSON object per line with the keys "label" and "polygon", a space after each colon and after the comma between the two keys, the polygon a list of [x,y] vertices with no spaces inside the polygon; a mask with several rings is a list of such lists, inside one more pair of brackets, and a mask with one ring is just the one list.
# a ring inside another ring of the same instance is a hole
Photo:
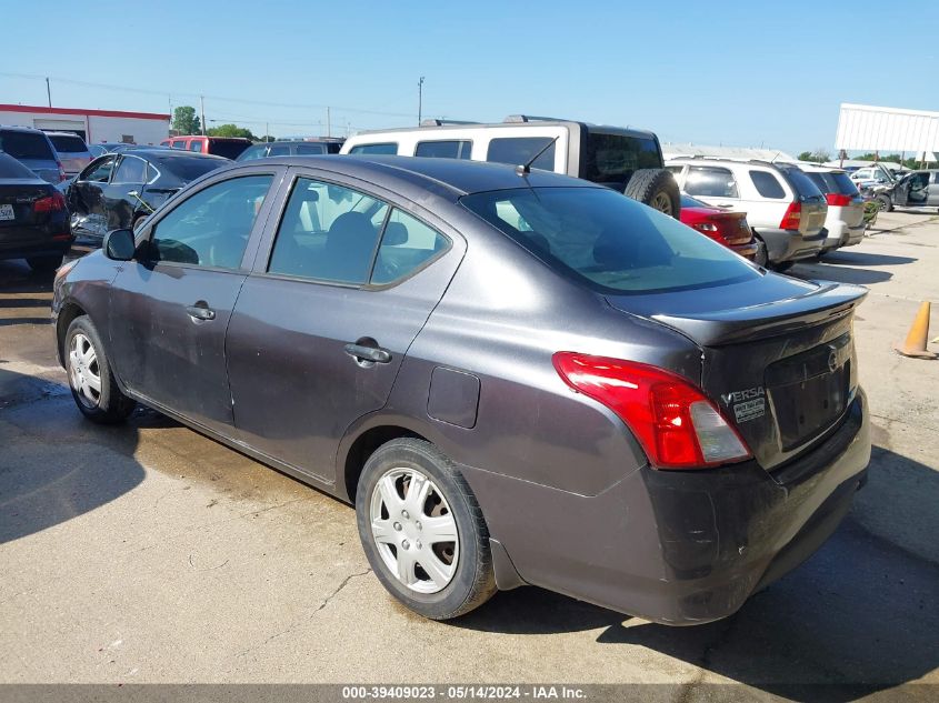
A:
{"label": "concrete parking lot pavement surrounding the gray Versa, including shadows", "polygon": [[938,268],[933,211],[882,213],[860,245],[791,270],[870,289],[855,329],[870,481],[821,551],[736,616],[669,629],[533,587],[451,623],[407,612],[349,506],[149,410],[84,421],[56,360],[51,280],[0,262],[0,675],[843,685],[831,700],[939,684],[939,365],[891,350],[939,301]]}

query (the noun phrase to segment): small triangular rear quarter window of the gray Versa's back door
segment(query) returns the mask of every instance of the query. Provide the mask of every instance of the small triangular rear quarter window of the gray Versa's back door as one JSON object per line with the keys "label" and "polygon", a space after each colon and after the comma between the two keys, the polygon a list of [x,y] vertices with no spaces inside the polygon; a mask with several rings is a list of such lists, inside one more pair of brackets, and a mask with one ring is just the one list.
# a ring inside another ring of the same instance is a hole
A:
{"label": "small triangular rear quarter window of the gray Versa's back door", "polygon": [[382,285],[407,278],[449,247],[440,232],[396,208],[384,224],[371,282]]}

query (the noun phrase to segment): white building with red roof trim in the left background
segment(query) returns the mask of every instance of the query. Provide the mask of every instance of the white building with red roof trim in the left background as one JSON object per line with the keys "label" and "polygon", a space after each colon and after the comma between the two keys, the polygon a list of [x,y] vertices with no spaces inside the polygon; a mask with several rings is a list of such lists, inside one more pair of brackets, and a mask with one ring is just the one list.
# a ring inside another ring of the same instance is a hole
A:
{"label": "white building with red roof trim in the left background", "polygon": [[169,135],[170,116],[156,112],[0,104],[0,124],[76,132],[89,144],[159,144]]}

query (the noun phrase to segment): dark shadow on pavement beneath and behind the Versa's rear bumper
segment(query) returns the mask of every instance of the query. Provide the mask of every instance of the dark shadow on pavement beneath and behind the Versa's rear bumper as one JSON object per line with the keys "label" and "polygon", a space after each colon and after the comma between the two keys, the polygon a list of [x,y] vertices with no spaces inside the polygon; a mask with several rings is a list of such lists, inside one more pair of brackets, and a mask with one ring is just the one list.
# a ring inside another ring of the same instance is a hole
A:
{"label": "dark shadow on pavement beneath and behind the Versa's rear bumper", "polygon": [[[876,448],[871,484],[862,492],[892,475],[879,476],[880,466],[900,464],[907,488],[879,510],[928,533],[936,523],[929,511],[939,504],[939,472]],[[939,666],[939,564],[898,545],[891,530],[878,529],[876,521],[878,534],[868,531],[866,510],[856,501],[813,556],[722,621],[669,627],[521,587],[454,624],[510,634],[600,629],[600,643],[653,650],[775,695],[853,701]]]}

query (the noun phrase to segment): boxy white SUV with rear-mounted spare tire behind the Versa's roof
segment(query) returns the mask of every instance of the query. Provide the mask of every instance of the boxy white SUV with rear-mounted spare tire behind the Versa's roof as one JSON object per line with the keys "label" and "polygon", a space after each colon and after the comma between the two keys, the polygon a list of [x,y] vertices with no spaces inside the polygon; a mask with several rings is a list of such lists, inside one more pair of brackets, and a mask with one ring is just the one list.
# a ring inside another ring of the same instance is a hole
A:
{"label": "boxy white SUV with rear-mounted spare tire behind the Versa's roof", "polygon": [[339,153],[470,159],[567,173],[679,217],[681,198],[652,132],[525,114],[505,122],[424,120],[421,127],[360,132]]}

